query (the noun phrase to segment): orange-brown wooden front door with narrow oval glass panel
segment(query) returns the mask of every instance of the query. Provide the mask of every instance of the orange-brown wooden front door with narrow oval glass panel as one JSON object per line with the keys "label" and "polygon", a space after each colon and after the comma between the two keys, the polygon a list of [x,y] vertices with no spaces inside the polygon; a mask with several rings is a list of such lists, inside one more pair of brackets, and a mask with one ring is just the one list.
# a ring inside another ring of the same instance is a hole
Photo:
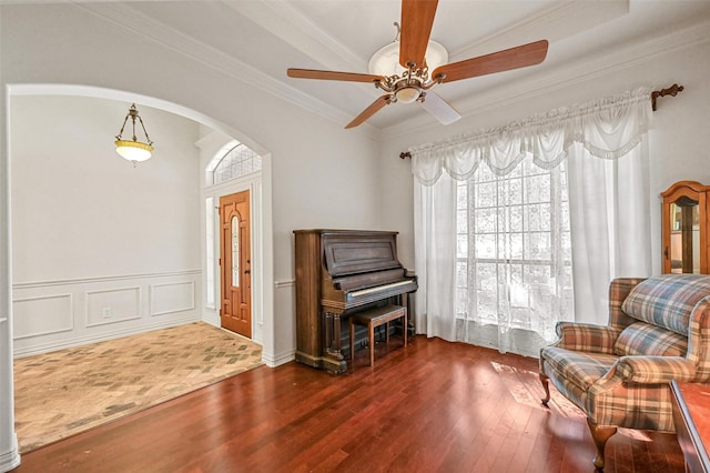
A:
{"label": "orange-brown wooden front door with narrow oval glass panel", "polygon": [[248,191],[220,198],[222,326],[252,338],[252,274]]}

